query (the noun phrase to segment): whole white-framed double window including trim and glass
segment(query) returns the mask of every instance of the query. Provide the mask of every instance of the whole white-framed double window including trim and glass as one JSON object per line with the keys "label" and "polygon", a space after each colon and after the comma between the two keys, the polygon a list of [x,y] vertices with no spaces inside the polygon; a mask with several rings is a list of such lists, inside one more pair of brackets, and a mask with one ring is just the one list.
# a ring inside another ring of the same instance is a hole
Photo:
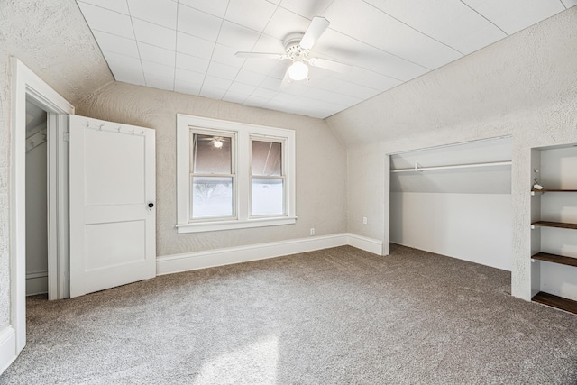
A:
{"label": "whole white-framed double window including trim and glass", "polygon": [[296,222],[295,133],[177,115],[177,229]]}

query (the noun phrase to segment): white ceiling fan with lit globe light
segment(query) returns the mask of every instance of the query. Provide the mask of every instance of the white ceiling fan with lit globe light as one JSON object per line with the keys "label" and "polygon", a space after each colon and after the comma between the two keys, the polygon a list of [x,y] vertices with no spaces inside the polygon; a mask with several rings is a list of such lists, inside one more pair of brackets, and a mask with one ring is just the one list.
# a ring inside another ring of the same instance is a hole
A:
{"label": "white ceiling fan with lit globe light", "polygon": [[236,52],[236,57],[247,59],[291,60],[292,64],[289,66],[289,69],[287,69],[287,72],[285,72],[285,77],[282,80],[283,85],[288,85],[291,80],[298,81],[307,78],[307,65],[335,72],[345,72],[352,69],[353,66],[341,63],[340,61],[308,57],[310,50],[313,48],[318,38],[328,28],[329,24],[330,22],[324,17],[315,16],[308,25],[307,32],[290,33],[287,36],[284,41],[284,53]]}

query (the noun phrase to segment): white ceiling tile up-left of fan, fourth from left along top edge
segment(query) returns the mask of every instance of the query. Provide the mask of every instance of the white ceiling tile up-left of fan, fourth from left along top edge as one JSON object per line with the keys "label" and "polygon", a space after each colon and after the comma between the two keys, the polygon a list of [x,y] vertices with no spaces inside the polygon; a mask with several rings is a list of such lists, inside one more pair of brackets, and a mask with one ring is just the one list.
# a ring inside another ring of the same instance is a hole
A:
{"label": "white ceiling tile up-left of fan, fourth from left along top edge", "polygon": [[266,0],[230,0],[224,19],[261,32],[276,9]]}

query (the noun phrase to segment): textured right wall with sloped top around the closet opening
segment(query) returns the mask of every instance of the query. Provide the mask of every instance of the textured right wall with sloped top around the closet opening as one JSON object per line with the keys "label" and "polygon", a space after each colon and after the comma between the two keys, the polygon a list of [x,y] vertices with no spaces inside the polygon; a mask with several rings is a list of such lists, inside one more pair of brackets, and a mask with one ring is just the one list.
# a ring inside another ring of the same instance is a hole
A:
{"label": "textured right wall with sloped top around the closet opening", "polygon": [[577,7],[328,118],[348,147],[348,231],[388,230],[386,153],[513,135],[511,289],[529,299],[529,148],[577,142],[575,41]]}

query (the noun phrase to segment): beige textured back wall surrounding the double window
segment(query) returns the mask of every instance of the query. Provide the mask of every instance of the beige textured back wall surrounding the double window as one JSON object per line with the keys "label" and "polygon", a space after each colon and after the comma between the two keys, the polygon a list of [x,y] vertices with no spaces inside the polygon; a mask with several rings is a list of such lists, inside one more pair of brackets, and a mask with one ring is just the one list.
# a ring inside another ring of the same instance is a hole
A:
{"label": "beige textured back wall surrounding the double window", "polygon": [[[177,234],[178,113],[295,130],[297,224]],[[311,227],[316,235],[346,230],[346,150],[323,120],[119,82],[84,99],[77,114],[156,130],[158,256],[303,238],[309,236]]]}

